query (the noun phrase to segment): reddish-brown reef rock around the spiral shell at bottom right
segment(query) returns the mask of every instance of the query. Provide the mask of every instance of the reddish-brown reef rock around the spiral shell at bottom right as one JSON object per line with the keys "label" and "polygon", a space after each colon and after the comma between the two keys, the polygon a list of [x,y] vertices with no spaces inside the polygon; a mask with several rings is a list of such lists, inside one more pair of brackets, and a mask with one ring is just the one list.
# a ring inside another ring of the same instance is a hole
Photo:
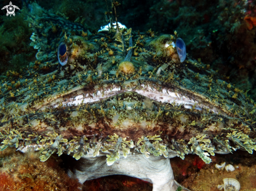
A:
{"label": "reddish-brown reef rock around the spiral shell at bottom right", "polygon": [[[184,161],[171,159],[173,171],[177,175],[175,179],[190,190],[217,191],[217,186],[222,184],[224,178],[234,178],[240,183],[240,190],[256,190],[255,153],[248,156],[244,151],[238,151],[227,155],[216,154],[211,158],[213,162],[203,166],[200,165],[200,159],[196,160],[193,156],[188,156]],[[215,164],[222,162],[233,165],[235,171],[218,170]]]}

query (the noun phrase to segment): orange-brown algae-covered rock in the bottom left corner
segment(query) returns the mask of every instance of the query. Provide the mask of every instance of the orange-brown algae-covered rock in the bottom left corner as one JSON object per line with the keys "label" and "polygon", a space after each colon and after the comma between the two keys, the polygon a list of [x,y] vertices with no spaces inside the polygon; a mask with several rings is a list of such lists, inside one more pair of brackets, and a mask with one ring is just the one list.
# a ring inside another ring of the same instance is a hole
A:
{"label": "orange-brown algae-covered rock in the bottom left corner", "polygon": [[7,148],[0,152],[1,190],[81,190],[82,185],[59,167],[60,158],[40,162],[38,154]]}

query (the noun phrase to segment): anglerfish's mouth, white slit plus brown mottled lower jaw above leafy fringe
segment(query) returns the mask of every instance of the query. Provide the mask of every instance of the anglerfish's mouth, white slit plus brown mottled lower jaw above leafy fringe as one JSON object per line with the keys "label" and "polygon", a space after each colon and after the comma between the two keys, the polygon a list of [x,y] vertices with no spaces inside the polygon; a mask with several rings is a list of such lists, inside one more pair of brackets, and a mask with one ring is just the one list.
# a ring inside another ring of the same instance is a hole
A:
{"label": "anglerfish's mouth, white slit plus brown mottled lower jaw above leafy fringe", "polygon": [[[170,139],[189,140],[204,126],[206,114],[208,120],[217,115],[227,116],[202,95],[148,79],[128,80],[122,85],[109,81],[84,87],[49,100],[39,110],[57,111],[56,120],[64,137],[85,134],[105,137],[116,133],[135,141],[159,132],[164,132]],[[38,126],[36,121],[35,128]],[[187,128],[193,121],[197,125],[192,125],[198,127]],[[42,129],[42,121],[40,123],[40,129],[46,130]],[[217,134],[216,127],[224,126],[220,123],[205,131]]]}

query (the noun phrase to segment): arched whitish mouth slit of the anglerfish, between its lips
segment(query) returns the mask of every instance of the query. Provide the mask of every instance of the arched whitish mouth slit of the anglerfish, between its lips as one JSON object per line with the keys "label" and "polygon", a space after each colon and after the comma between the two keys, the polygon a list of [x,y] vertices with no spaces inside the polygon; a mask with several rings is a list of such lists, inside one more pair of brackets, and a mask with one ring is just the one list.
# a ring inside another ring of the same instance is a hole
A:
{"label": "arched whitish mouth slit of the anglerfish, between its lips", "polygon": [[[207,102],[203,95],[195,95],[189,90],[180,89],[175,86],[159,85],[152,81],[143,81],[142,83],[140,80],[125,81],[123,85],[109,82],[102,86],[96,85],[81,88],[49,102],[44,105],[41,110],[45,108],[77,107],[81,104],[104,102],[104,100],[109,98],[114,99],[116,96],[128,92],[137,93],[144,98],[148,98],[148,100],[162,104],[181,106],[181,108],[195,112],[205,111],[227,115],[226,112],[221,110],[218,106]],[[141,101],[143,102],[143,100]],[[131,104],[132,103],[129,105],[132,106]]]}

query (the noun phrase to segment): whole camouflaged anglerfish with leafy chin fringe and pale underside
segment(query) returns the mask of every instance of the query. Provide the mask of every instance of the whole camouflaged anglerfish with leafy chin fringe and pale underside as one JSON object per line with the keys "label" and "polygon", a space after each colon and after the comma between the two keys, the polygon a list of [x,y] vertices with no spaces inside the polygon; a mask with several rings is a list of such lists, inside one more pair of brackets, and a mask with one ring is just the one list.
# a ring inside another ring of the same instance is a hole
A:
{"label": "whole camouflaged anglerfish with leafy chin fringe and pale underside", "polygon": [[256,150],[253,100],[209,65],[181,61],[176,35],[89,35],[76,23],[64,33],[65,19],[46,22],[52,14],[33,6],[41,11],[29,18],[39,52],[1,83],[1,150],[34,148],[41,161],[70,154],[77,169],[69,173],[81,183],[124,174],[154,191],[177,189],[169,158],[194,153],[209,163],[210,154]]}

